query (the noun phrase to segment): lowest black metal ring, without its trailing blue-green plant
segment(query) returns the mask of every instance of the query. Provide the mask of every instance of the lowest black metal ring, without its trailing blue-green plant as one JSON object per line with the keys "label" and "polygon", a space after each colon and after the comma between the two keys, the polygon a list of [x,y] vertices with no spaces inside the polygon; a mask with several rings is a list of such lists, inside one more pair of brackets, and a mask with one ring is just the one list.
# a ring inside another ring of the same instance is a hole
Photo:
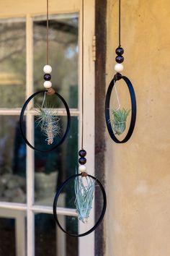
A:
{"label": "lowest black metal ring, without its trailing blue-green plant", "polygon": [[68,234],[69,236],[75,236],[75,237],[81,237],[81,236],[86,236],[88,234],[90,234],[92,231],[94,231],[95,229],[97,229],[97,226],[99,226],[99,223],[101,223],[102,219],[104,218],[104,214],[105,214],[105,211],[106,211],[106,208],[107,208],[107,197],[106,197],[106,192],[104,190],[104,187],[102,186],[101,182],[99,182],[99,180],[97,178],[95,178],[94,176],[91,176],[91,175],[87,175],[89,176],[91,179],[94,179],[95,182],[97,182],[97,184],[99,185],[100,189],[102,190],[102,195],[103,195],[103,208],[102,208],[102,213],[101,215],[99,216],[99,219],[97,221],[97,223],[95,223],[95,225],[89,229],[89,231],[86,231],[82,234],[71,234],[69,232],[67,232],[65,229],[63,229],[63,227],[61,226],[61,224],[59,223],[58,221],[58,216],[57,216],[57,202],[58,202],[58,197],[59,195],[61,194],[61,191],[63,189],[63,187],[66,186],[66,184],[71,180],[71,179],[74,179],[78,176],[81,176],[81,174],[74,174],[72,176],[70,176],[68,179],[66,179],[65,182],[63,182],[63,184],[61,184],[61,187],[59,187],[59,189],[57,190],[56,192],[56,195],[54,197],[54,202],[53,202],[53,216],[55,218],[55,221],[56,223],[58,224],[58,226],[60,227],[60,229]]}

